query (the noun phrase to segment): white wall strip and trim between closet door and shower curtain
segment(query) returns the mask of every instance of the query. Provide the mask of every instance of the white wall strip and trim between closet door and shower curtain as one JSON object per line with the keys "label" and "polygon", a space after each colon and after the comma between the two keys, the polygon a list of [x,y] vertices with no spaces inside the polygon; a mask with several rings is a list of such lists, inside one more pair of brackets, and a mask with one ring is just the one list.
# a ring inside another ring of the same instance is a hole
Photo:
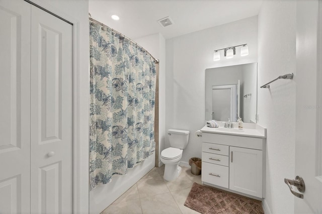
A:
{"label": "white wall strip and trim between closet door and shower curtain", "polygon": [[[78,151],[74,158],[74,171],[77,169],[79,176],[74,185],[76,198],[74,201],[75,213],[88,213],[89,211],[89,1],[88,0],[31,0],[31,2],[47,9],[50,12],[74,24],[74,87],[78,95],[74,96],[75,109],[78,114],[78,123],[74,127],[75,141]],[[75,49],[78,48],[78,49]],[[74,93],[75,94],[75,93]],[[81,95],[80,95],[81,94]],[[77,156],[77,157],[75,157]]]}

